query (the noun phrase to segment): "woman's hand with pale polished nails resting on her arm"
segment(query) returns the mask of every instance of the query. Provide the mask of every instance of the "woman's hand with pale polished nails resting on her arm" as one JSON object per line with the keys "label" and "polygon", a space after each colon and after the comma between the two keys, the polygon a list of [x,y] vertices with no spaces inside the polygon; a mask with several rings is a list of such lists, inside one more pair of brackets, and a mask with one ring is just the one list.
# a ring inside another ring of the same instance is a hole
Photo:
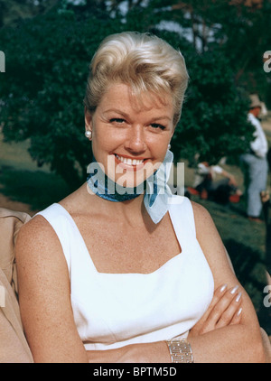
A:
{"label": "woman's hand with pale polished nails resting on her arm", "polygon": [[231,324],[238,324],[241,321],[241,302],[242,296],[241,293],[238,293],[238,286],[228,289],[225,284],[217,288],[208,310],[190,330],[189,337],[199,336]]}

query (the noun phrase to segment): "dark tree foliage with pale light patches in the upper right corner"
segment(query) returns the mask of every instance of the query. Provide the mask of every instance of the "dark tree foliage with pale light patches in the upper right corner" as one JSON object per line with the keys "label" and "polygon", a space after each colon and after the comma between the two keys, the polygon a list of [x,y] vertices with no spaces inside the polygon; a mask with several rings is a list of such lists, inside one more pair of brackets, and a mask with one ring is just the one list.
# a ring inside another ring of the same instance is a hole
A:
{"label": "dark tree foliage with pale light patches in the upper right corner", "polygon": [[[197,51],[216,51],[226,57],[235,84],[257,92],[271,107],[271,79],[263,70],[263,54],[270,50],[270,0],[152,0],[158,9],[168,5],[163,18],[190,31]],[[170,6],[169,6],[170,5]]]}

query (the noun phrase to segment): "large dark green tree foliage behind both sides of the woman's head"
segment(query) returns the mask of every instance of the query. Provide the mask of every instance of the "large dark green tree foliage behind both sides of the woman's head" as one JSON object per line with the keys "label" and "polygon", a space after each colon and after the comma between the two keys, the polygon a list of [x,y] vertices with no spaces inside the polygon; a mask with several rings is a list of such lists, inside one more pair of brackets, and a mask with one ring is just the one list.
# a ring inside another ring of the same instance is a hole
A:
{"label": "large dark green tree foliage behind both sides of the woman's head", "polygon": [[199,51],[180,33],[157,27],[168,19],[194,28],[183,9],[174,10],[171,1],[154,0],[147,6],[130,1],[126,17],[120,1],[111,3],[109,8],[101,0],[96,7],[93,2],[62,3],[47,14],[0,30],[0,50],[6,57],[0,82],[5,139],[29,138],[37,163],[49,163],[71,188],[78,186],[91,160],[82,103],[89,61],[108,34],[136,30],[161,36],[180,48],[187,62],[191,79],[173,137],[175,158],[192,161],[198,153],[201,160],[215,163],[245,151],[251,139],[247,98],[236,86],[235,68],[220,44],[207,39]]}

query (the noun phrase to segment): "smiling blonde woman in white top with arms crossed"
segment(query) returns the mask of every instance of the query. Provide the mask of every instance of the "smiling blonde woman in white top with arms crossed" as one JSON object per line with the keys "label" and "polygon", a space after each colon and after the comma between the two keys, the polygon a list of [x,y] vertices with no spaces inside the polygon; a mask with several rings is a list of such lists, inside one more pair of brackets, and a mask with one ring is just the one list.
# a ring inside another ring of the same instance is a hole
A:
{"label": "smiling blonde woman in white top with arms crossed", "polygon": [[165,184],[187,82],[180,51],[155,36],[119,33],[98,48],[85,98],[88,181],[17,239],[35,362],[264,360],[209,213]]}

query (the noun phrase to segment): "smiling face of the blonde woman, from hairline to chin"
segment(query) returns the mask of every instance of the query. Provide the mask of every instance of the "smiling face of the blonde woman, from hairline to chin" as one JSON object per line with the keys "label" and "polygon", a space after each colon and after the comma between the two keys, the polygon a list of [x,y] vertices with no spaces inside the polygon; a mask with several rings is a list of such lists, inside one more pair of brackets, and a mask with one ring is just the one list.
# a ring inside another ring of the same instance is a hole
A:
{"label": "smiling face of the blonde woman, from hairline to chin", "polygon": [[153,94],[137,100],[127,85],[114,84],[94,114],[85,115],[96,161],[111,180],[129,188],[145,181],[163,163],[174,129],[169,95],[163,103]]}

